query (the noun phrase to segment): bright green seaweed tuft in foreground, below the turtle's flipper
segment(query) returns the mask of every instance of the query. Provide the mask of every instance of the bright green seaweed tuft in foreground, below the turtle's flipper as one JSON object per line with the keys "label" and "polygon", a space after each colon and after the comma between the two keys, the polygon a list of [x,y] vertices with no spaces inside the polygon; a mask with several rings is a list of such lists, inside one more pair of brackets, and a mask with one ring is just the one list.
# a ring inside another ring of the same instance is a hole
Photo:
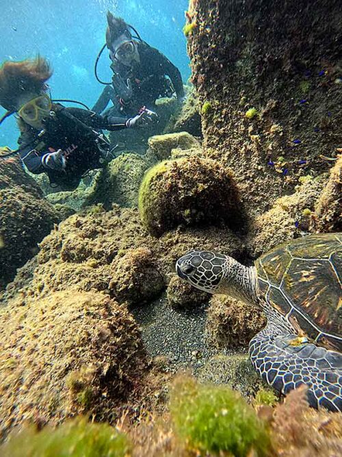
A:
{"label": "bright green seaweed tuft in foreground, below the turtle's flipper", "polygon": [[252,406],[228,386],[177,378],[172,386],[170,412],[179,439],[191,449],[198,449],[198,455],[269,455],[267,426]]}

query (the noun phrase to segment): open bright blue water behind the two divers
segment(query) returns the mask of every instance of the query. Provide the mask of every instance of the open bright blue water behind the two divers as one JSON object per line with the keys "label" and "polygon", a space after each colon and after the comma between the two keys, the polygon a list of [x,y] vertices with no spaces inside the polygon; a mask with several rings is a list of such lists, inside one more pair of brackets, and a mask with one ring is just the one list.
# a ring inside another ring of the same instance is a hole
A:
{"label": "open bright blue water behind the two divers", "polygon": [[[1,0],[0,62],[47,57],[55,99],[77,99],[92,106],[104,86],[94,77],[96,55],[105,43],[106,12],[133,25],[143,40],[164,53],[186,82],[189,58],[182,27],[188,0]],[[110,60],[103,51],[98,75],[110,81]],[[5,112],[0,108],[0,116]],[[15,119],[0,126],[0,146],[16,147]]]}

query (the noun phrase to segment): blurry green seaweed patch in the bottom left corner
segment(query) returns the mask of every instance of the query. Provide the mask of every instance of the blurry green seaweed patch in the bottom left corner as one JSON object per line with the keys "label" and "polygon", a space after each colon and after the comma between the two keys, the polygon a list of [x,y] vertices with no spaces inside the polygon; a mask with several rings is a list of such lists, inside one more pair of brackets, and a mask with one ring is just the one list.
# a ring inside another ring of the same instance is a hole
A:
{"label": "blurry green seaweed patch in the bottom left corner", "polygon": [[66,421],[53,429],[40,432],[34,427],[10,435],[0,446],[2,457],[25,456],[54,457],[128,457],[131,443],[126,435],[107,423],[90,423],[86,417]]}

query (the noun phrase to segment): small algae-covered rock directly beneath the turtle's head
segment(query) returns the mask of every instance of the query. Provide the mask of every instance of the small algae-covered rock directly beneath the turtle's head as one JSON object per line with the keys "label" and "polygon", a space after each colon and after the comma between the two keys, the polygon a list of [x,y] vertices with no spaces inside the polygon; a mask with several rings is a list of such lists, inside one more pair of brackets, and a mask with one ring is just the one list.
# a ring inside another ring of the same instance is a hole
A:
{"label": "small algae-covered rock directly beneath the turtle's head", "polygon": [[173,276],[168,284],[168,304],[172,308],[196,308],[196,306],[207,303],[211,295],[202,292],[187,284],[178,276]]}

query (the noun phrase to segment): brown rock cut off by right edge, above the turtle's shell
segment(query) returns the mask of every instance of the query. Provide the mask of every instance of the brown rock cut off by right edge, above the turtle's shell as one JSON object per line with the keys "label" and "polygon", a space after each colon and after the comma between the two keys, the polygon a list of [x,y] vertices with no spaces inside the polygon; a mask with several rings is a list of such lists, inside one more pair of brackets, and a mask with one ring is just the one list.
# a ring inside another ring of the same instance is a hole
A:
{"label": "brown rock cut off by right edge, above the turtle's shell", "polygon": [[313,226],[319,232],[342,230],[342,156],[330,170],[328,182],[315,205]]}

